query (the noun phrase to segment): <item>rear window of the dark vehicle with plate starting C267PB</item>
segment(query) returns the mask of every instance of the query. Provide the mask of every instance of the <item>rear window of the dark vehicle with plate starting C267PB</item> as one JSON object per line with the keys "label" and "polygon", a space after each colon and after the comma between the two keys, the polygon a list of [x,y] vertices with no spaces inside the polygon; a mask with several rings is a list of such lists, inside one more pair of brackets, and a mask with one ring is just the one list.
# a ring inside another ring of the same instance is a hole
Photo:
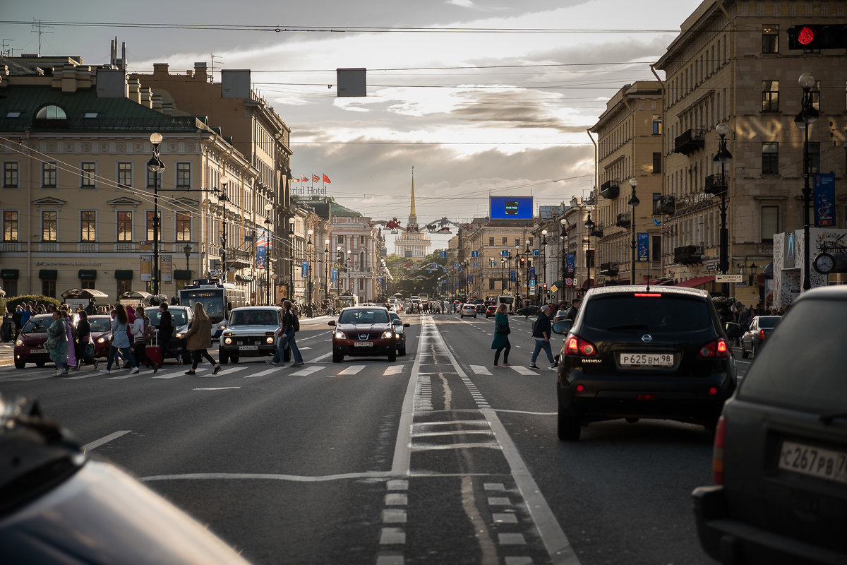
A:
{"label": "rear window of the dark vehicle with plate starting C267PB", "polygon": [[738,396],[811,412],[844,412],[847,302],[797,302],[741,381]]}

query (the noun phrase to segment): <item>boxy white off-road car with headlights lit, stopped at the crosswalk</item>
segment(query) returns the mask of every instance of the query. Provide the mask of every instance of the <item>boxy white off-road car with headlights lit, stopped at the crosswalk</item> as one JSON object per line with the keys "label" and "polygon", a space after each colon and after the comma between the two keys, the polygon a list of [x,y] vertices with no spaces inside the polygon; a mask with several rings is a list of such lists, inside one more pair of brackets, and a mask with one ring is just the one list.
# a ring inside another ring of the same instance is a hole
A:
{"label": "boxy white off-road car with headlights lit, stopped at the crosswalk", "polygon": [[279,306],[233,308],[220,335],[218,361],[238,363],[241,357],[267,357],[276,352],[277,339],[285,329]]}

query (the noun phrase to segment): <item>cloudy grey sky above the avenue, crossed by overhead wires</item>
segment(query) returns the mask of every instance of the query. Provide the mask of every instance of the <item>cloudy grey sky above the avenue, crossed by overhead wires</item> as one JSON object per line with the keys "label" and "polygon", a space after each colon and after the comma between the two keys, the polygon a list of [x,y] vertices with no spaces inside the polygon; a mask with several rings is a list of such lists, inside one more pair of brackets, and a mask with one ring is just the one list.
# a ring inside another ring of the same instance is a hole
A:
{"label": "cloudy grey sky above the avenue, crossed by overhead wires", "polygon": [[[700,0],[0,4],[14,55],[104,64],[117,36],[133,72],[252,69],[291,127],[292,173],[325,174],[336,202],[405,226],[412,167],[420,224],[484,217],[490,196],[532,196],[536,213],[589,196],[587,130],[623,85],[655,80]],[[345,68],[368,69],[366,97],[336,97]]]}

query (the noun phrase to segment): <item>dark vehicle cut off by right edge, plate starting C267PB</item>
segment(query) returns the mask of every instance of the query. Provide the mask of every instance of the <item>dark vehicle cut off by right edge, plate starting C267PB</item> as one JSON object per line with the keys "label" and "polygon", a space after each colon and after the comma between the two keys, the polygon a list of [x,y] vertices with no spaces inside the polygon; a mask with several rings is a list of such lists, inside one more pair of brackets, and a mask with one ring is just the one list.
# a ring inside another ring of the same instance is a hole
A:
{"label": "dark vehicle cut off by right edge, plate starting C267PB", "polygon": [[847,563],[847,287],[805,291],[724,405],[692,493],[723,563]]}

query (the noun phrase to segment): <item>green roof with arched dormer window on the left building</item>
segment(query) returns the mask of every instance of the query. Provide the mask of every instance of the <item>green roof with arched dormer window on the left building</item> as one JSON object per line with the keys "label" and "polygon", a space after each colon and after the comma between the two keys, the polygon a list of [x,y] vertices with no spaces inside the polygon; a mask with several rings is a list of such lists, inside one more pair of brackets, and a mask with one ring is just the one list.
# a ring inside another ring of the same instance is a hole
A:
{"label": "green roof with arched dormer window on the left building", "polygon": [[[167,116],[129,98],[98,98],[94,88],[63,92],[52,86],[0,88],[0,131],[195,131],[193,116]],[[47,105],[64,110],[67,119],[36,121],[36,112]],[[11,114],[10,114],[11,113]],[[19,113],[18,117],[9,117]],[[89,116],[86,118],[86,114]]]}

